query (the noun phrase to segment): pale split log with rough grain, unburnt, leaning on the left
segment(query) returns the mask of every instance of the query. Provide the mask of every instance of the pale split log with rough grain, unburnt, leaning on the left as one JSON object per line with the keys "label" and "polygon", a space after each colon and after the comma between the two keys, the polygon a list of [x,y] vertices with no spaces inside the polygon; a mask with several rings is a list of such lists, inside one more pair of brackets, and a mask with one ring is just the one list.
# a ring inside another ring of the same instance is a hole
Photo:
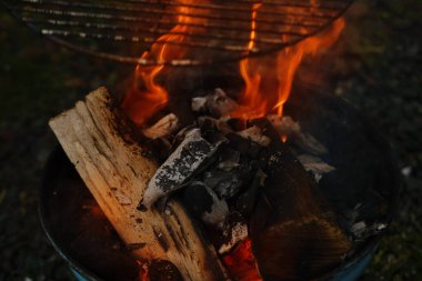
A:
{"label": "pale split log with rough grain, unburnt, leaning on the left", "polygon": [[49,122],[101,209],[135,258],[169,260],[184,280],[228,280],[214,248],[179,202],[170,200],[163,211],[137,210],[158,167],[112,103],[100,88]]}

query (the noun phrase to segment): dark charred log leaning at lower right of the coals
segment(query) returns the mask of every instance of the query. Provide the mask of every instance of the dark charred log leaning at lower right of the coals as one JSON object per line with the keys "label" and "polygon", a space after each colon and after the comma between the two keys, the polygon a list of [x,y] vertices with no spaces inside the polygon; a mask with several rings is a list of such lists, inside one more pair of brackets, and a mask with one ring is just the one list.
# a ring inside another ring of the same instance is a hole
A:
{"label": "dark charred log leaning at lower right of the coals", "polygon": [[259,271],[270,281],[315,278],[342,261],[350,241],[315,181],[278,140],[278,132],[265,121],[258,123],[273,140],[268,148],[268,178],[250,220]]}

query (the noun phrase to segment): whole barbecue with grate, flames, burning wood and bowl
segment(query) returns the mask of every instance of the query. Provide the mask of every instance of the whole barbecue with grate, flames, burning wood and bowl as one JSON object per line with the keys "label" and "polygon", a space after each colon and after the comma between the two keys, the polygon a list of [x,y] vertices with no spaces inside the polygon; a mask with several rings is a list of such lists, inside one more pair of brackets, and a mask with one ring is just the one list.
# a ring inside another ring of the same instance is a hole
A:
{"label": "whole barbecue with grate, flames, burning wood and bowl", "polygon": [[120,98],[100,88],[50,121],[125,279],[326,279],[371,254],[394,208],[390,147],[294,81],[351,1],[2,3],[58,43],[137,64]]}

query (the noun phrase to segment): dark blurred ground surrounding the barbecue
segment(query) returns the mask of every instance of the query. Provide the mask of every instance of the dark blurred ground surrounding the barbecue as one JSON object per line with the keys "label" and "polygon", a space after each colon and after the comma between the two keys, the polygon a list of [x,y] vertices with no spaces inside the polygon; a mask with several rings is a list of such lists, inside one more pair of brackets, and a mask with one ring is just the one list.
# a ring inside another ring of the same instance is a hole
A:
{"label": "dark blurred ground surrounding the barbecue", "polygon": [[[318,64],[324,87],[379,127],[403,174],[398,215],[362,280],[422,280],[422,1],[358,0],[346,19]],[[0,10],[0,280],[72,280],[37,213],[57,144],[47,122],[132,70],[52,44]]]}

